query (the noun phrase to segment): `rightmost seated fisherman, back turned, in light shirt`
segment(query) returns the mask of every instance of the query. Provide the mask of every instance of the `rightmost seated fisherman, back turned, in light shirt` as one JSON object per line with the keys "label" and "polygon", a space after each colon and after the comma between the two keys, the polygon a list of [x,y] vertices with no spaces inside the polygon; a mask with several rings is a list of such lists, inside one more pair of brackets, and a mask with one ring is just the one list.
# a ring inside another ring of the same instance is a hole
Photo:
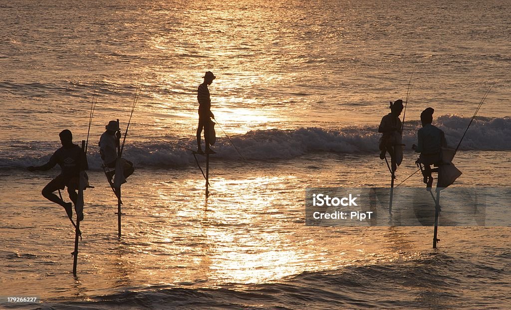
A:
{"label": "rightmost seated fisherman, back turned, in light shirt", "polygon": [[431,125],[433,122],[433,108],[427,108],[421,113],[422,128],[417,131],[417,145],[412,149],[416,153],[421,153],[418,163],[424,164],[423,177],[426,187],[431,188],[433,177],[431,175],[431,165],[439,165],[442,161],[442,147],[447,147],[447,141],[444,132]]}

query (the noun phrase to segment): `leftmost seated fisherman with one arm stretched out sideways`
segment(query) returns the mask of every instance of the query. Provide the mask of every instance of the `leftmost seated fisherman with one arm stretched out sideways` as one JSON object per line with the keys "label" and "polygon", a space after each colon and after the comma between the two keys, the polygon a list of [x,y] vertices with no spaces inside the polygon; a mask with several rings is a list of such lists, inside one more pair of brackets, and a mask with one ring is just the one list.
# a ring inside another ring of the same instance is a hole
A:
{"label": "leftmost seated fisherman with one arm stretched out sideways", "polygon": [[[88,169],[87,157],[82,148],[73,144],[73,134],[65,129],[59,133],[62,147],[58,149],[50,158],[50,161],[40,166],[29,166],[29,171],[45,171],[52,169],[56,164],[60,165],[61,173],[48,185],[42,189],[42,196],[64,207],[67,217],[73,221],[73,203],[79,221],[83,220],[83,210],[76,209],[78,200],[77,190],[79,189],[80,172]],[[67,187],[67,193],[71,202],[64,202],[57,195],[53,194],[56,190]]]}

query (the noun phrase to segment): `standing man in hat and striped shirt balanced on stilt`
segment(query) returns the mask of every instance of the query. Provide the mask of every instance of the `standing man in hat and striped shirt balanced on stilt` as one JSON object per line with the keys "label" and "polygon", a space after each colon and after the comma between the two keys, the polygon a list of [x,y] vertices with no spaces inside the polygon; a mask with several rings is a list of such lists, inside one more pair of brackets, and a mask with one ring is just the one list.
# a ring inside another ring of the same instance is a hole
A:
{"label": "standing man in hat and striped shirt balanced on stilt", "polygon": [[211,85],[213,80],[216,78],[215,75],[211,71],[207,71],[204,75],[204,82],[199,85],[197,90],[197,99],[199,100],[199,126],[197,127],[197,152],[204,153],[200,146],[200,135],[202,133],[202,129],[204,129],[204,141],[206,144],[206,153],[215,154],[213,150],[210,149],[210,130],[213,125],[213,121],[210,117],[215,118],[213,113],[211,112],[211,99],[210,99],[210,90],[207,88],[207,85]]}

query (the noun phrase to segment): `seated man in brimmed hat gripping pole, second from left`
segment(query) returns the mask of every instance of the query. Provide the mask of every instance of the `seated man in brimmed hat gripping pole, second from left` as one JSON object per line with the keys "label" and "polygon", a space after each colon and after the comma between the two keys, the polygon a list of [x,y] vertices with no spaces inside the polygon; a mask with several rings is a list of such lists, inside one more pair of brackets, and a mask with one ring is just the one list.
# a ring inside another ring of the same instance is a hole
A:
{"label": "seated man in brimmed hat gripping pole, second from left", "polygon": [[[121,129],[117,121],[110,121],[105,126],[106,131],[101,135],[99,140],[99,153],[105,167],[115,169],[115,163],[117,161],[117,149],[120,145]],[[129,177],[134,171],[133,163],[129,160],[121,158],[122,167],[124,171],[124,178]],[[115,170],[111,170],[106,173],[108,181],[112,181],[112,177],[115,174]]]}

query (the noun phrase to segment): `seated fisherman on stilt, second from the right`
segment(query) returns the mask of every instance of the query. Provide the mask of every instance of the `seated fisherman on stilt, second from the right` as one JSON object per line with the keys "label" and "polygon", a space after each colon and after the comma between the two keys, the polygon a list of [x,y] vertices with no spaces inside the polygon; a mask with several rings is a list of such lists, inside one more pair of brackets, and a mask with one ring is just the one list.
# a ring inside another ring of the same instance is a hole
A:
{"label": "seated fisherman on stilt, second from the right", "polygon": [[385,153],[390,154],[392,171],[396,171],[396,160],[394,160],[394,146],[401,143],[401,120],[399,115],[403,111],[403,100],[399,99],[390,103],[390,113],[382,117],[378,132],[383,133],[378,148],[380,149],[380,159],[385,158]]}

